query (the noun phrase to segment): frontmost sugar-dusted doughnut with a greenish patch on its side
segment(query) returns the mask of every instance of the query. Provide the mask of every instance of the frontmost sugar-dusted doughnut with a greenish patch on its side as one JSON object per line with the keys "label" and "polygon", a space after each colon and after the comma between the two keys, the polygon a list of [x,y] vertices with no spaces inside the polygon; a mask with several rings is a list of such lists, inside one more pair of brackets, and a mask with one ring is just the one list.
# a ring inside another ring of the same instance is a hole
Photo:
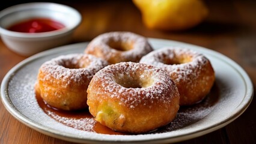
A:
{"label": "frontmost sugar-dusted doughnut with a greenish patch on its side", "polygon": [[115,131],[145,133],[177,115],[179,94],[168,74],[147,64],[120,62],[98,71],[87,89],[89,111]]}

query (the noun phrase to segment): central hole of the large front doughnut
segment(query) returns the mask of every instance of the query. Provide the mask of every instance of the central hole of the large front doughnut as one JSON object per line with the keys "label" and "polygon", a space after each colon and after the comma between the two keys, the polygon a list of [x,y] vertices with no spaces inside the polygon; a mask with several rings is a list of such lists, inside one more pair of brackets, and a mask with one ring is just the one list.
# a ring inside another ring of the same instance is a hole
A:
{"label": "central hole of the large front doughnut", "polygon": [[125,73],[114,76],[114,80],[124,88],[147,88],[154,83],[154,79],[149,76],[150,74],[135,74],[131,76],[131,74]]}

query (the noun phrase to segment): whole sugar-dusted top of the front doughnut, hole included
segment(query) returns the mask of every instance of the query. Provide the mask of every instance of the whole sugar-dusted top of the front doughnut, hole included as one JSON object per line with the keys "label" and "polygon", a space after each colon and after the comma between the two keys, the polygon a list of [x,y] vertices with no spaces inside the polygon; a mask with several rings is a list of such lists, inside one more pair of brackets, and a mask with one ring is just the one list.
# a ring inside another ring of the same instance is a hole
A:
{"label": "whole sugar-dusted top of the front doughnut, hole included", "polygon": [[[152,83],[147,83],[144,87],[143,82],[150,80]],[[109,65],[96,73],[92,82],[100,82],[98,88],[93,87],[94,91],[105,94],[110,92],[111,98],[117,98],[119,104],[130,108],[139,104],[150,106],[151,103],[170,103],[172,98],[178,95],[174,82],[164,71],[134,62]],[[131,88],[132,86],[135,88]]]}

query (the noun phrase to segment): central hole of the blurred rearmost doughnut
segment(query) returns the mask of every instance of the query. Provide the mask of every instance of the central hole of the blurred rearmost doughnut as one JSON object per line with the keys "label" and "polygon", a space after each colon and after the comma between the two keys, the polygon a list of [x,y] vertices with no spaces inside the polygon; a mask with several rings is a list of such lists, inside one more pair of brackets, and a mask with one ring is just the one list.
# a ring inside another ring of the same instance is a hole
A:
{"label": "central hole of the blurred rearmost doughnut", "polygon": [[127,43],[124,41],[116,41],[116,40],[109,40],[108,41],[108,45],[109,47],[111,47],[112,49],[115,49],[115,50],[119,50],[119,51],[128,51],[128,50],[132,50],[133,49],[133,43],[134,42],[130,42],[130,43]]}

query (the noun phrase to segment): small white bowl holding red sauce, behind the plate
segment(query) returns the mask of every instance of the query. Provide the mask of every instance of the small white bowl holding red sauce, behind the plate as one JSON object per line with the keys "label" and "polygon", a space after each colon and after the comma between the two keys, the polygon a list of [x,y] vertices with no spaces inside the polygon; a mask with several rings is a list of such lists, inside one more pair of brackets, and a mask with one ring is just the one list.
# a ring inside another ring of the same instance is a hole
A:
{"label": "small white bowl holding red sauce, behind the plate", "polygon": [[[49,32],[14,32],[7,28],[14,23],[32,18],[53,19],[65,28]],[[0,11],[0,34],[8,48],[24,56],[34,55],[52,47],[67,44],[81,23],[81,14],[72,7],[52,2],[31,2],[14,5]]]}

